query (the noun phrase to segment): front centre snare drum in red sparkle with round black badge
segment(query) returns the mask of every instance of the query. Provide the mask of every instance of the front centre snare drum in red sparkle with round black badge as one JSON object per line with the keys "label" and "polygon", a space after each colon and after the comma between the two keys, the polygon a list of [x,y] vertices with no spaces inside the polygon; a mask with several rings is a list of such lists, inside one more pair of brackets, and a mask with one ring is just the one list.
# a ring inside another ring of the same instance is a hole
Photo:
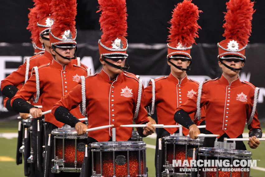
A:
{"label": "front centre snare drum in red sparkle with round black badge", "polygon": [[94,142],[93,177],[147,177],[146,148],[142,141]]}

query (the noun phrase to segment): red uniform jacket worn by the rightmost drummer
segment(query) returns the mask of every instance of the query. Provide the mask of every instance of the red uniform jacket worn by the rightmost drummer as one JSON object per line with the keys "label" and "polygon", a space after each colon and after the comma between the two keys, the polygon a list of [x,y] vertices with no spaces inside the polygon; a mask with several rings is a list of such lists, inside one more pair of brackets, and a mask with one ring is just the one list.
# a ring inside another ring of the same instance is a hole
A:
{"label": "red uniform jacket worn by the rightmost drummer", "polygon": [[[222,75],[220,79],[204,82],[201,93],[201,106],[206,105],[206,130],[213,134],[226,133],[230,138],[236,138],[243,133],[246,120],[253,108],[255,86],[239,78],[231,82]],[[179,106],[191,113],[196,111],[197,94]],[[260,128],[257,111],[248,129]]]}

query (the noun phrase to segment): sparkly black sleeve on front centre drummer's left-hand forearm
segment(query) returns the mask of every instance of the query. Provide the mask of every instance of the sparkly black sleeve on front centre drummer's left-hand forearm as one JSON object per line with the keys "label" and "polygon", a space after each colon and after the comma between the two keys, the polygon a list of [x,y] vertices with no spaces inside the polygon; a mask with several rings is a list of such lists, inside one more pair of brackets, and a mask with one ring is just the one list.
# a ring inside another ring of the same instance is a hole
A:
{"label": "sparkly black sleeve on front centre drummer's left-hand forearm", "polygon": [[57,109],[55,109],[54,117],[56,120],[70,125],[71,127],[74,127],[76,123],[81,122],[63,106],[59,106]]}

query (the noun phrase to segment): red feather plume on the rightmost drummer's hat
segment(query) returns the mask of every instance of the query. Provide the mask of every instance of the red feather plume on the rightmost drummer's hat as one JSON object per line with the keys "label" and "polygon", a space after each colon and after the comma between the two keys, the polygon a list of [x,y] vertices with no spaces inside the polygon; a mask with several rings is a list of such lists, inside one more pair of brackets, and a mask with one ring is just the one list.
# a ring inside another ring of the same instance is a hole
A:
{"label": "red feather plume on the rightmost drummer's hat", "polygon": [[226,2],[227,12],[225,12],[225,33],[226,39],[237,40],[245,45],[251,35],[252,15],[256,11],[253,9],[254,2],[250,0],[230,0]]}

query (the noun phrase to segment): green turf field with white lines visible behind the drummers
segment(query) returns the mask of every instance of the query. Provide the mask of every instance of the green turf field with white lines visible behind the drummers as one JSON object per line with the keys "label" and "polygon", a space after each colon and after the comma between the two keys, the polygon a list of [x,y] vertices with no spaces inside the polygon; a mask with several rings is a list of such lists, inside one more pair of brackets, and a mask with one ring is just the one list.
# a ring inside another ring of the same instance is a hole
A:
{"label": "green turf field with white lines visible behind the drummers", "polygon": [[[11,122],[0,122],[0,133],[12,133],[17,132],[17,121]],[[265,128],[263,128],[264,130]],[[245,132],[248,132],[246,129]],[[147,144],[155,145],[155,139],[151,138],[144,138],[144,141]],[[23,177],[24,170],[23,164],[16,165],[15,158],[16,158],[16,148],[17,148],[17,138],[6,139],[0,138],[0,176],[1,177]],[[257,149],[250,149],[248,146],[249,151],[252,152],[252,159],[257,159],[258,167],[265,168],[265,142],[261,142],[261,145]],[[247,145],[247,144],[246,144]],[[155,176],[155,168],[154,168],[154,154],[155,150],[152,148],[147,148],[146,150],[146,161],[148,167],[148,176],[154,177]],[[13,161],[12,161],[13,160]],[[250,175],[253,177],[264,177],[265,171],[260,170],[253,170],[251,169]]]}

